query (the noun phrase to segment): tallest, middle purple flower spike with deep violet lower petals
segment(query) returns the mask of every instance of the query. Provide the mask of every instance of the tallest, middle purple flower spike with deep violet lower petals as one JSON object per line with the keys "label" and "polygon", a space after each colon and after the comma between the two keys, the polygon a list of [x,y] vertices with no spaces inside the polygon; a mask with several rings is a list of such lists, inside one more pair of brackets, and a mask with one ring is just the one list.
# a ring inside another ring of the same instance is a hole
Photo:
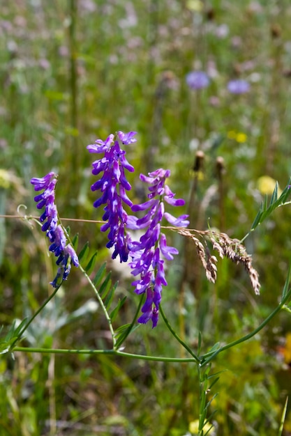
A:
{"label": "tallest, middle purple flower spike with deep violet lower petals", "polygon": [[124,205],[130,208],[133,205],[132,201],[126,195],[126,191],[131,189],[130,184],[126,180],[124,170],[134,171],[132,165],[126,160],[126,152],[120,148],[119,143],[129,145],[135,143],[134,138],[136,132],[117,132],[115,136],[110,134],[105,141],[97,139],[94,144],[87,146],[89,153],[104,153],[103,157],[93,162],[92,174],[101,178],[92,186],[92,191],[100,191],[101,196],[94,202],[94,208],[105,204],[103,220],[107,221],[101,226],[101,231],[109,230],[106,247],[114,246],[112,258],[119,255],[120,262],[128,260],[128,236],[126,235],[125,226],[127,221],[127,213],[124,210]]}

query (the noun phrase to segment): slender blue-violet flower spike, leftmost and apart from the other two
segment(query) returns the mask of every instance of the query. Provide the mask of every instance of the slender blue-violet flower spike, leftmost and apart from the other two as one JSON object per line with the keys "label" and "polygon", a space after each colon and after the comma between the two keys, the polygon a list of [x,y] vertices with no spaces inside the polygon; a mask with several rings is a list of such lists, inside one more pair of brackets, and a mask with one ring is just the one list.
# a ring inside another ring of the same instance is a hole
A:
{"label": "slender blue-violet flower spike, leftmost and apart from the other two", "polygon": [[75,250],[70,244],[67,244],[66,235],[63,228],[58,225],[57,206],[54,203],[54,189],[57,183],[57,176],[55,173],[50,172],[43,178],[32,178],[31,184],[34,185],[35,191],[42,191],[34,197],[37,208],[45,211],[40,215],[40,222],[43,222],[42,231],[46,232],[51,244],[49,250],[57,257],[57,265],[59,269],[57,276],[50,284],[57,288],[62,281],[68,278],[70,273],[71,264],[75,267],[79,266],[79,260]]}

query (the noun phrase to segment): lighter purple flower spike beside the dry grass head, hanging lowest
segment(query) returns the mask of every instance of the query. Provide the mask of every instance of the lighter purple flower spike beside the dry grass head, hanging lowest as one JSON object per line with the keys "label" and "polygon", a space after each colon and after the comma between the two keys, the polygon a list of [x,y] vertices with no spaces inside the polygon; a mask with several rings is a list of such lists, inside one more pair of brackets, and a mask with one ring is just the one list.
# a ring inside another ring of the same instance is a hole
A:
{"label": "lighter purple flower spike beside the dry grass head, hanging lowest", "polygon": [[127,227],[131,229],[147,228],[139,242],[130,243],[130,267],[133,276],[140,275],[140,279],[133,281],[135,293],[146,294],[146,301],[142,306],[142,316],[138,322],[146,323],[151,320],[153,328],[158,322],[158,308],[162,298],[162,288],[167,286],[165,279],[164,256],[167,260],[173,259],[173,254],[179,251],[167,246],[167,239],[161,233],[161,221],[165,218],[173,226],[186,227],[188,215],[175,218],[165,212],[165,204],[173,206],[184,205],[184,200],[174,198],[170,187],[165,185],[165,179],[170,176],[170,170],[158,169],[149,176],[140,175],[140,180],[149,184],[149,200],[140,205],[133,205],[133,212],[147,211],[144,217],[137,219],[128,217]]}

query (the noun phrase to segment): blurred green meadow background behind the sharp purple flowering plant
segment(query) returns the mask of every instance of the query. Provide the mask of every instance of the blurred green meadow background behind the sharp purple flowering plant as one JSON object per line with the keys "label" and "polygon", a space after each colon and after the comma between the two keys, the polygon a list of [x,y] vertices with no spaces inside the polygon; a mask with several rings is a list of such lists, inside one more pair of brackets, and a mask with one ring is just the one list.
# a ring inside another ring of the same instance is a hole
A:
{"label": "blurred green meadow background behind the sharp purple flowering plant", "polygon": [[[137,131],[126,148],[135,201],[140,172],[171,170],[169,185],[186,199],[191,227],[241,239],[275,180],[291,164],[291,3],[289,0],[0,0],[0,214],[36,215],[31,177],[59,173],[57,205],[80,247],[108,260],[116,325],[139,302],[119,263],[112,264],[90,186],[89,143],[117,130]],[[192,83],[190,72],[207,83]],[[188,77],[189,78],[189,77]],[[204,77],[205,78],[205,77]],[[248,89],[232,89],[243,80]],[[246,272],[218,260],[204,277],[195,247],[167,232],[180,255],[167,270],[163,307],[197,348],[232,341],[276,306],[290,260],[289,206],[246,239],[260,274],[256,296]],[[0,218],[0,325],[31,315],[52,292],[54,259],[38,226]],[[103,313],[78,270],[29,327],[23,345],[110,348]],[[181,357],[160,320],[126,341],[128,352]],[[291,318],[281,312],[260,334],[218,355],[217,410],[209,435],[277,435],[291,391]],[[16,352],[0,360],[0,435],[195,435],[195,367],[111,357]],[[287,412],[283,435],[291,435]]]}

